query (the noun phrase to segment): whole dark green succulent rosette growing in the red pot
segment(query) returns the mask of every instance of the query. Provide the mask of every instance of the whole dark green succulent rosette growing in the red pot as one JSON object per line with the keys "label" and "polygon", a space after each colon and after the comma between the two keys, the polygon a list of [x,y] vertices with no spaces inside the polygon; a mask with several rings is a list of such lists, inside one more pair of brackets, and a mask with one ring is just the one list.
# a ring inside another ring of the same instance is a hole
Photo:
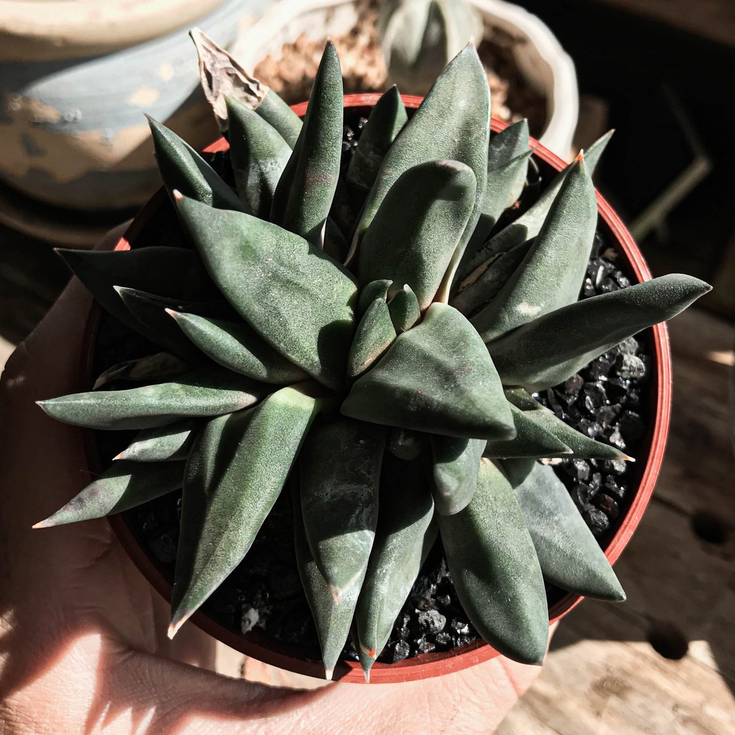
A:
{"label": "whole dark green succulent rosette growing in the red pot", "polygon": [[[223,51],[201,35],[198,46],[237,79]],[[481,636],[538,663],[544,580],[624,594],[567,490],[536,460],[629,458],[532,394],[709,286],[664,276],[578,301],[597,222],[590,173],[606,139],[496,226],[522,196],[531,151],[525,123],[490,138],[472,46],[410,120],[395,88],[381,97],[344,176],[331,43],[303,124],[257,80],[243,92],[204,78],[215,107],[223,88],[248,103],[226,100],[234,189],[151,120],[194,248],[182,238],[61,251],[107,311],[162,351],[107,370],[91,392],[41,401],[75,426],[140,433],[37,526],[183,487],[173,636],[245,559],[290,478],[328,678],[351,628],[369,676],[437,535]],[[123,388],[135,379],[146,382]]]}

